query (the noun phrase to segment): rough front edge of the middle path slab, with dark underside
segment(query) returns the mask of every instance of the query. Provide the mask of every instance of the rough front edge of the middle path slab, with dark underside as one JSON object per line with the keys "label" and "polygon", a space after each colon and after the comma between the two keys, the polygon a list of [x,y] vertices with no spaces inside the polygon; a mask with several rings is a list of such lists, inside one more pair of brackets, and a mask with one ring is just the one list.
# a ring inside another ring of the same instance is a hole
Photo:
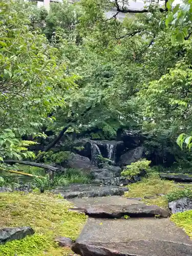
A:
{"label": "rough front edge of the middle path slab, with dark underside", "polygon": [[145,204],[136,204],[136,205],[127,205],[127,206],[118,206],[118,205],[105,205],[90,207],[84,209],[86,215],[95,218],[120,218],[125,215],[130,217],[163,217],[167,218],[170,216],[169,211],[162,209],[156,205],[145,205]]}

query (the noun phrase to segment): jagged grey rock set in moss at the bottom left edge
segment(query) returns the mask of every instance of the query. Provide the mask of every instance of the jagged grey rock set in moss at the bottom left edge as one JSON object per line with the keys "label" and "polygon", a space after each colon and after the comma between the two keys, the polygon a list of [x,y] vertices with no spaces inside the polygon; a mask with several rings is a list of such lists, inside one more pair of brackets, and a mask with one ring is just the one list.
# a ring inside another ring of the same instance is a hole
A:
{"label": "jagged grey rock set in moss at the bottom left edge", "polygon": [[5,227],[0,229],[0,244],[5,244],[12,240],[20,240],[31,236],[35,231],[31,227]]}

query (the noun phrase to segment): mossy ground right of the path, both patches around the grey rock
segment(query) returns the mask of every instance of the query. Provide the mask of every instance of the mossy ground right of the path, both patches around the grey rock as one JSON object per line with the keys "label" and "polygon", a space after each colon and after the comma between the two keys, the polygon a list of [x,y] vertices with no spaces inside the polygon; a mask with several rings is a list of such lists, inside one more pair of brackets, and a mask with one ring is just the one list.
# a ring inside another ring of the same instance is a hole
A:
{"label": "mossy ground right of the path, both patches around the grey rock", "polygon": [[[125,196],[142,198],[142,201],[148,205],[158,205],[168,209],[166,195],[182,189],[192,190],[192,184],[163,180],[158,174],[152,173],[148,178],[142,178],[140,182],[129,185],[129,191],[125,193]],[[192,210],[174,214],[170,220],[183,228],[192,239]]]}

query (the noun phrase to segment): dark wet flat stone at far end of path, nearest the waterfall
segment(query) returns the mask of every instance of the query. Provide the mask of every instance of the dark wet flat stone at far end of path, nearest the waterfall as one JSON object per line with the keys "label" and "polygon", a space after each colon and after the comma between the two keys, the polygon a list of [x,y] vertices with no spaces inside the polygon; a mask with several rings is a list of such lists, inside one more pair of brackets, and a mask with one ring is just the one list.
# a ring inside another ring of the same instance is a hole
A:
{"label": "dark wet flat stone at far end of path, nearest the waterfall", "polygon": [[122,196],[127,191],[126,187],[115,186],[94,186],[91,184],[71,185],[68,187],[58,187],[52,191],[54,194],[60,194],[65,199],[83,198],[83,197],[106,197]]}

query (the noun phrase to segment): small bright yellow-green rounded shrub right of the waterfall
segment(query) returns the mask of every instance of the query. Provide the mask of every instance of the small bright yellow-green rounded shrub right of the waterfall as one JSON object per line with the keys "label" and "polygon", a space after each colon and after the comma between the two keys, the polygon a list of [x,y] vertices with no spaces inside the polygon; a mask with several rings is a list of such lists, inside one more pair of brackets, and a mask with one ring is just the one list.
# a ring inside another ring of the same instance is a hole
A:
{"label": "small bright yellow-green rounded shrub right of the waterfall", "polygon": [[131,163],[130,165],[126,166],[123,172],[121,172],[121,175],[132,178],[133,176],[140,174],[142,170],[147,171],[148,169],[150,169],[150,163],[151,161],[148,161],[146,159]]}

